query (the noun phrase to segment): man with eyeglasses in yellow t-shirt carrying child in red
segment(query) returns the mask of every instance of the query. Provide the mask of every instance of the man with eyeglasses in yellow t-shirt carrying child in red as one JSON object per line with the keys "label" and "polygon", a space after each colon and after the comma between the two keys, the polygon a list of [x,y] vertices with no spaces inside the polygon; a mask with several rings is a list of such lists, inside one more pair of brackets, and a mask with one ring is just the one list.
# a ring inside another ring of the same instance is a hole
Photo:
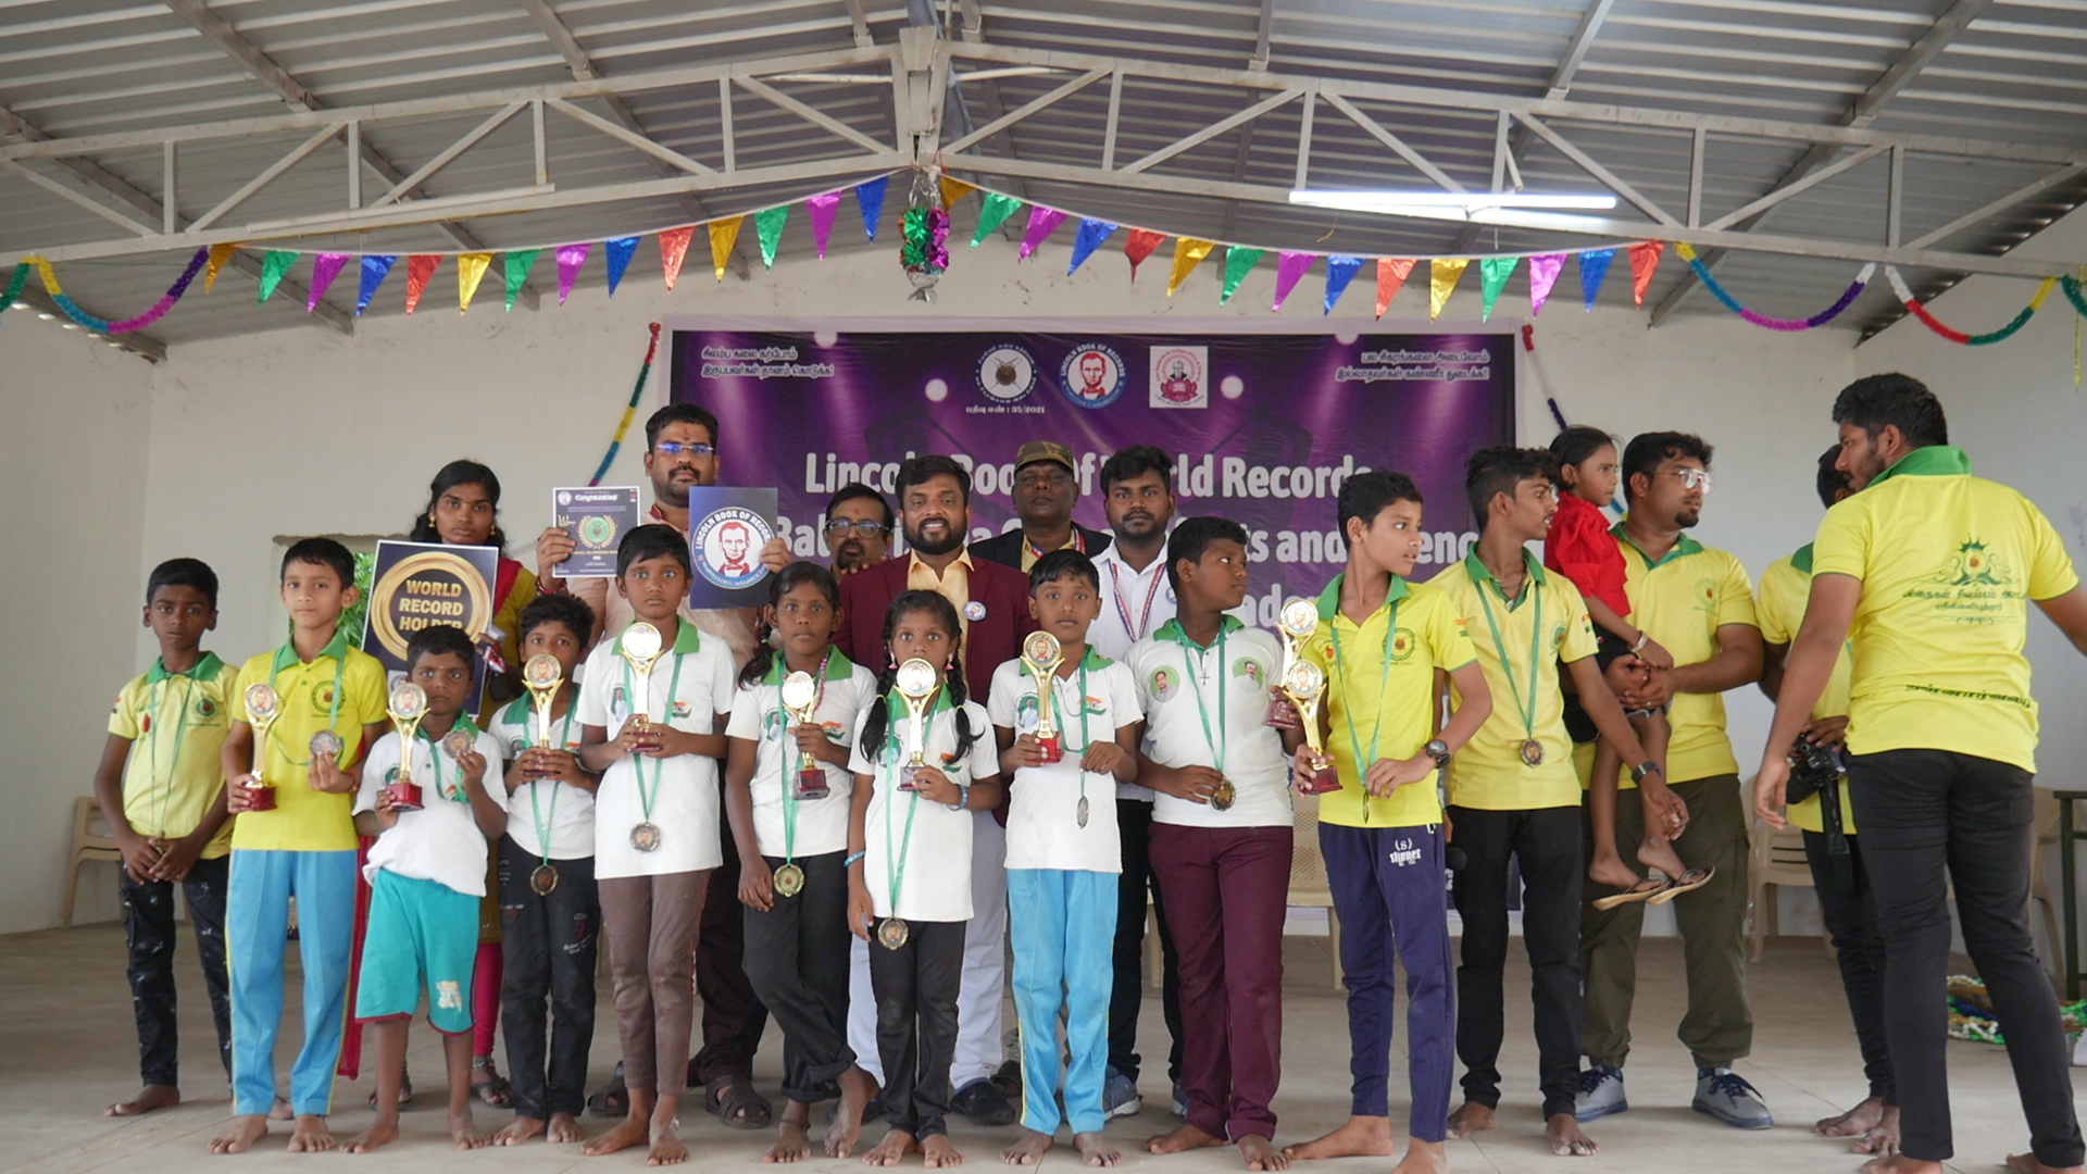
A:
{"label": "man with eyeglasses in yellow t-shirt carrying child in red", "polygon": [[[1711,447],[1688,432],[1645,432],[1624,447],[1624,493],[1630,514],[1611,531],[1624,554],[1630,618],[1674,656],[1655,671],[1636,656],[1607,668],[1609,687],[1626,710],[1668,710],[1665,775],[1688,804],[1686,831],[1674,850],[1688,869],[1713,869],[1709,884],[1674,900],[1688,982],[1688,1013],[1680,1040],[1697,1065],[1690,1107],[1736,1128],[1772,1128],[1761,1095],[1732,1072],[1753,1051],[1753,1009],[1747,1005],[1743,928],[1747,919],[1747,813],[1738,758],[1724,731],[1720,694],[1761,677],[1761,629],[1753,614],[1747,568],[1722,549],[1686,535],[1709,495]],[[1582,777],[1594,746],[1578,752]],[[1632,785],[1628,775],[1620,785]],[[1645,838],[1636,802],[1617,802],[1615,840]],[[1592,1122],[1628,1109],[1624,1059],[1630,1055],[1630,1005],[1636,994],[1638,934],[1645,905],[1594,909],[1588,886],[1580,909],[1580,971],[1586,984],[1580,1074],[1574,1116]]]}

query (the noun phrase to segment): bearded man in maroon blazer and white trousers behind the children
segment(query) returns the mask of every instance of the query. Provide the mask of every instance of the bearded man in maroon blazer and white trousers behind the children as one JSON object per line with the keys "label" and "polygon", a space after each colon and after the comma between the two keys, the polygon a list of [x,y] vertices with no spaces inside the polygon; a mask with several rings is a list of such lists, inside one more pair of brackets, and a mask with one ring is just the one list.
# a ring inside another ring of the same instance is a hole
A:
{"label": "bearded man in maroon blazer and white trousers behind the children", "polygon": [[[964,627],[964,691],[985,702],[993,668],[1014,660],[1025,635],[1037,631],[1029,616],[1029,577],[998,562],[970,558],[970,474],[943,455],[912,457],[899,466],[893,491],[906,556],[866,566],[841,579],[841,627],[833,643],[856,664],[881,673],[885,612],[902,591],[937,591],[956,606]],[[989,811],[977,813],[970,842],[970,928],[964,934],[964,982],[956,994],[956,1061],[950,1063],[950,1107],[981,1126],[1014,1124],[1010,1088],[995,1084],[1006,1049],[1000,1003],[1006,994],[1008,833]],[[1012,1088],[1018,1095],[1018,1086]]]}

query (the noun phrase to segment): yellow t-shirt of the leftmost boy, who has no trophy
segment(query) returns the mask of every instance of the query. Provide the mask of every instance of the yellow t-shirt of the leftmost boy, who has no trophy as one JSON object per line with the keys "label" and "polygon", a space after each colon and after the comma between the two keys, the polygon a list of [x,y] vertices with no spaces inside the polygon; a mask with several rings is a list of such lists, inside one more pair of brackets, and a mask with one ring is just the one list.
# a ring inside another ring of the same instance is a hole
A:
{"label": "yellow t-shirt of the leftmost boy, who has no trophy", "polygon": [[[219,752],[232,731],[232,683],[240,671],[205,652],[188,673],[152,671],[117,694],[109,733],[131,742],[123,762],[123,819],[131,831],[179,840],[202,823],[225,788]],[[202,846],[205,861],[232,850],[232,821]]]}

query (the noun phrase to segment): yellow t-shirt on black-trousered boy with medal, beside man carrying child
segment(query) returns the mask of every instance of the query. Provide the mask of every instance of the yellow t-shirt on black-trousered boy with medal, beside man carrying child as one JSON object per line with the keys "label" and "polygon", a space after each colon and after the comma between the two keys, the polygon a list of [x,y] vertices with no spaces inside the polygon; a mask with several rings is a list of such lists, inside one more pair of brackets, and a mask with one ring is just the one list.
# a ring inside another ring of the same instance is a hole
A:
{"label": "yellow t-shirt on black-trousered boy with medal, beside man carrying child", "polygon": [[[1521,558],[1530,577],[1513,604],[1476,549],[1428,581],[1463,612],[1463,629],[1486,671],[1486,689],[1492,691],[1492,717],[1448,760],[1450,806],[1580,806],[1559,662],[1594,656],[1594,623],[1569,579],[1546,572],[1530,551]],[[1455,683],[1450,702],[1463,704]],[[1530,739],[1542,748],[1542,758],[1534,765],[1521,752],[1521,744]]]}

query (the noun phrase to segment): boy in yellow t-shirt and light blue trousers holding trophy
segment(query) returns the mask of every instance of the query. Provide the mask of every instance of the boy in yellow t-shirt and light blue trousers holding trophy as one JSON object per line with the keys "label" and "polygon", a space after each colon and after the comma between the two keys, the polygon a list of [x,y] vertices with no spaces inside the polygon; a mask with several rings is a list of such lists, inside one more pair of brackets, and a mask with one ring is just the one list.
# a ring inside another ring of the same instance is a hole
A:
{"label": "boy in yellow t-shirt and light blue trousers holding trophy", "polygon": [[[242,1153],[267,1134],[275,1099],[282,955],[296,898],[305,969],[305,1044],[290,1070],[292,1153],[334,1149],[326,1128],[346,1019],[355,936],[353,767],[384,735],[384,666],[351,648],[340,612],[355,604],[355,556],[334,539],[303,539],[282,556],[290,639],[240,668],[223,769],[232,781],[232,1128],[211,1153]],[[275,694],[278,717],[255,744],[248,706]],[[269,806],[269,800],[273,804]]]}

